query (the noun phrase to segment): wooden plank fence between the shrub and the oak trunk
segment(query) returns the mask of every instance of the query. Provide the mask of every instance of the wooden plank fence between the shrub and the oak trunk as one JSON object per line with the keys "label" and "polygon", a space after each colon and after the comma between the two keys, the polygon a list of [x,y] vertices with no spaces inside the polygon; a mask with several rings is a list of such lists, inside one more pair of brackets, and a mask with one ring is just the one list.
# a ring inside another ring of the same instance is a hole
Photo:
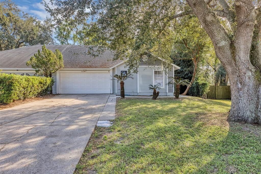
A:
{"label": "wooden plank fence between the shrub and the oak trunk", "polygon": [[209,99],[231,99],[230,86],[209,86]]}

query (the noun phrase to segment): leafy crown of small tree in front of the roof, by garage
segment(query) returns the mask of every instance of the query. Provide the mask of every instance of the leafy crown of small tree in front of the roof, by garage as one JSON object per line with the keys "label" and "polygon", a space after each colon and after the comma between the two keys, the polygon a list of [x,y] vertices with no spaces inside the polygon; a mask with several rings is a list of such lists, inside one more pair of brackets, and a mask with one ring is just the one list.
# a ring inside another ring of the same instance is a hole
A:
{"label": "leafy crown of small tree in front of the roof, by garage", "polygon": [[64,67],[63,56],[60,50],[56,49],[55,53],[53,53],[43,45],[41,52],[38,50],[38,53],[34,54],[34,56],[26,62],[26,65],[31,65],[39,75],[52,77],[52,73]]}

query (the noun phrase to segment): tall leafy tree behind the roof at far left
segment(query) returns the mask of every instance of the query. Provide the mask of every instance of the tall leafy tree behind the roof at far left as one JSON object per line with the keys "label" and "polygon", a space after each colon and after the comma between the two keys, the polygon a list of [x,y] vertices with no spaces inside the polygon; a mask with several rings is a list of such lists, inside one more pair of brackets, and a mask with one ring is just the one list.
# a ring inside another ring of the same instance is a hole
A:
{"label": "tall leafy tree behind the roof at far left", "polygon": [[51,19],[43,22],[22,12],[11,1],[0,2],[0,51],[37,44],[54,44]]}

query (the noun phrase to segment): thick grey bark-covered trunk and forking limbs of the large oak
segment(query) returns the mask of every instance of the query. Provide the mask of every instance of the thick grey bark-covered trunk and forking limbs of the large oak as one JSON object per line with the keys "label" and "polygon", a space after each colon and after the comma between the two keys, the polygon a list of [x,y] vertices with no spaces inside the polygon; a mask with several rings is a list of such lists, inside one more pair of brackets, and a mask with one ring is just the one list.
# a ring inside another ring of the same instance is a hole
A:
{"label": "thick grey bark-covered trunk and forking limbs of the large oak", "polygon": [[253,1],[235,0],[234,38],[227,34],[216,14],[208,8],[204,0],[186,1],[211,38],[216,55],[228,74],[232,102],[228,120],[261,124],[261,73],[257,68],[261,48],[255,42],[258,39],[260,41],[261,29],[254,26],[256,22],[260,24],[260,21],[256,21]]}

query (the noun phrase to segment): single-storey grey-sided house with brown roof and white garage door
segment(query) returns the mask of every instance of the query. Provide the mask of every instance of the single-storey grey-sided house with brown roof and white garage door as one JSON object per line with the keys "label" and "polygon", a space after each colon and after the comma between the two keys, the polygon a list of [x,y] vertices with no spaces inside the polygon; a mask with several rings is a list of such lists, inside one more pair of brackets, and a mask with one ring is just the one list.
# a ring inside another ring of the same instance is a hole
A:
{"label": "single-storey grey-sided house with brown roof and white garage door", "polygon": [[[15,73],[22,76],[36,76],[32,67],[26,62],[41,50],[42,45],[34,45],[11,50],[0,51],[0,69],[2,73]],[[64,68],[52,74],[54,78],[54,94],[120,94],[120,84],[111,80],[115,74],[126,73],[126,60],[112,61],[111,51],[92,57],[86,55],[87,48],[79,45],[46,45],[47,49],[59,49],[63,55]],[[146,56],[145,56],[146,57]],[[148,63],[150,62],[150,64]],[[152,65],[151,65],[151,62]],[[162,60],[146,59],[139,63],[139,72],[133,74],[134,79],[125,81],[125,94],[151,95],[150,84],[161,83],[160,95],[173,96],[173,85],[166,85],[168,76],[174,77],[174,71],[179,66],[171,63],[171,69],[165,74],[162,69]]]}

